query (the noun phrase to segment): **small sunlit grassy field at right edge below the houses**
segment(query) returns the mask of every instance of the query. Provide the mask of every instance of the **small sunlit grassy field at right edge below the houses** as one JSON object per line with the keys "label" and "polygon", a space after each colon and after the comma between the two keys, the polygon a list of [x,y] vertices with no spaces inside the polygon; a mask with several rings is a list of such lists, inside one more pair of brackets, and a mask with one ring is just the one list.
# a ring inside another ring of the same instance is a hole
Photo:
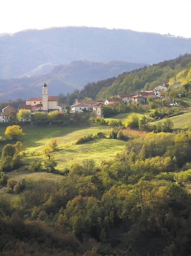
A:
{"label": "small sunlit grassy field at right edge below the houses", "polygon": [[[176,117],[170,117],[174,123],[174,128],[186,128],[191,126],[191,112],[187,112],[182,115],[177,115]],[[161,120],[161,121],[164,121]],[[157,124],[159,121],[151,122],[151,125]]]}

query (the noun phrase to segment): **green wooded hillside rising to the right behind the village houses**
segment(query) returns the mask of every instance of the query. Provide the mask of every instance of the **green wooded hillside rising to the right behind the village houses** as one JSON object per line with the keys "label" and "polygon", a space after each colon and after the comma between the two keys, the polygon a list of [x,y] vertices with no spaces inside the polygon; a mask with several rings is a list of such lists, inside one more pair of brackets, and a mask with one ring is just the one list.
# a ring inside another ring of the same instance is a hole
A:
{"label": "green wooded hillside rising to the right behind the village houses", "polygon": [[136,93],[137,90],[141,89],[153,89],[163,81],[170,80],[172,84],[175,82],[173,70],[176,72],[176,81],[189,83],[191,82],[190,67],[191,54],[185,54],[173,60],[125,72],[116,78],[88,83],[80,92],[80,97],[82,99],[85,97],[104,99],[118,93]]}

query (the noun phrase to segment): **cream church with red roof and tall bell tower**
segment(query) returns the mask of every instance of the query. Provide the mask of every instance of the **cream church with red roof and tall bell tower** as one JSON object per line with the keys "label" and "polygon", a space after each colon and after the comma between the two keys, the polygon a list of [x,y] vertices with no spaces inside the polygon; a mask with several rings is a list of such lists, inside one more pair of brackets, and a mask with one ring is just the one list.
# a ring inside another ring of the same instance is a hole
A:
{"label": "cream church with red roof and tall bell tower", "polygon": [[44,83],[42,87],[42,97],[34,97],[26,100],[26,105],[19,105],[19,109],[29,109],[31,114],[42,111],[45,114],[54,110],[62,113],[62,106],[58,105],[58,96],[48,96],[48,87]]}

